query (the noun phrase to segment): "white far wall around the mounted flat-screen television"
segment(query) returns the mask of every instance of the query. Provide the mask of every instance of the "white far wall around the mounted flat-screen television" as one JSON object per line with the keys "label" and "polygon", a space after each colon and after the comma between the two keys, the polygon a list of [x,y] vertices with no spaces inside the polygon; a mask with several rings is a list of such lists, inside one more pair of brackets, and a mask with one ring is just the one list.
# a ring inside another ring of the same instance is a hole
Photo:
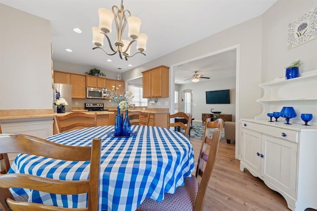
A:
{"label": "white far wall around the mounted flat-screen television", "polygon": [[[224,78],[220,80],[208,80],[198,83],[179,85],[179,91],[184,89],[193,90],[193,118],[202,120],[202,113],[211,113],[211,108],[221,111],[222,114],[232,114],[235,121],[236,106],[236,78]],[[230,89],[230,104],[206,104],[206,91]]]}

